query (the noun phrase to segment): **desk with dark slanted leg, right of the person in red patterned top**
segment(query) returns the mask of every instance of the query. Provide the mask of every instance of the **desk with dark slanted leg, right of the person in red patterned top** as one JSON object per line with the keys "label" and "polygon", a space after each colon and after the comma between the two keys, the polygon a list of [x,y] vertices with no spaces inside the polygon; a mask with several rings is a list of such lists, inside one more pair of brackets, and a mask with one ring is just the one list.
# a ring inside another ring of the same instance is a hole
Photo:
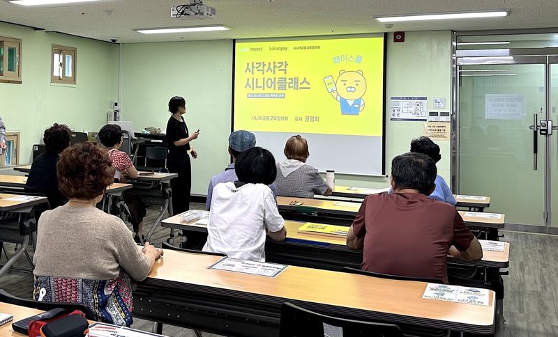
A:
{"label": "desk with dark slanted leg, right of the person in red patterned top", "polygon": [[[172,190],[170,187],[170,181],[173,178],[178,177],[177,173],[163,173],[155,172],[152,175],[141,175],[142,173],[147,173],[140,171],[140,175],[130,182],[133,183],[133,190],[131,193],[140,196],[144,203],[148,205],[159,205],[162,206],[158,217],[151,225],[149,232],[146,235],[146,241],[151,241],[151,235],[155,232],[157,225],[160,223],[161,219],[165,215],[165,212],[169,212],[172,215]],[[160,185],[160,189],[157,187]],[[174,234],[173,234],[174,235]]]}

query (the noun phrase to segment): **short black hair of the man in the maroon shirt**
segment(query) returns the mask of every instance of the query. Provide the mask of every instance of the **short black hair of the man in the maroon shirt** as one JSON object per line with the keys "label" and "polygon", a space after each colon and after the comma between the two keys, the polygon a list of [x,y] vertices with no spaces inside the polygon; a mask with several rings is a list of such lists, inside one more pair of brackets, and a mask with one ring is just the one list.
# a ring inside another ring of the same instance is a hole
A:
{"label": "short black hair of the man in the maroon shirt", "polygon": [[422,194],[428,195],[434,187],[436,175],[436,163],[422,153],[408,152],[391,161],[394,189],[418,189]]}

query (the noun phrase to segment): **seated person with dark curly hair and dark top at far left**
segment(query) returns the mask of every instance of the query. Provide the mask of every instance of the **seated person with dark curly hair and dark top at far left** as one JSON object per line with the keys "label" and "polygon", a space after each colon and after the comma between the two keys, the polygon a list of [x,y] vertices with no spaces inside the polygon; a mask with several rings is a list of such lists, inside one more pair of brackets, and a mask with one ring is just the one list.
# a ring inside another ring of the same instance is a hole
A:
{"label": "seated person with dark curly hair and dark top at far left", "polygon": [[56,163],[60,152],[70,146],[72,132],[66,125],[56,124],[45,130],[43,142],[45,153],[41,153],[31,164],[29,178],[25,183],[25,191],[44,194],[48,198],[50,208],[54,209],[63,205],[68,200],[58,189],[56,180]]}

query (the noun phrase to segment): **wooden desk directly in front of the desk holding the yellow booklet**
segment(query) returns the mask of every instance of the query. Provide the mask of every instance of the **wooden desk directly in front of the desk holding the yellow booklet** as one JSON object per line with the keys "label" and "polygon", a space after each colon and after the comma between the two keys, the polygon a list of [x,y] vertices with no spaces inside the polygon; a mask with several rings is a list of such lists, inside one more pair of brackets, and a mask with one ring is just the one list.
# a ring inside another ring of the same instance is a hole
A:
{"label": "wooden desk directly in front of the desk holding the yellow booklet", "polygon": [[[302,202],[302,205],[291,205],[292,202]],[[316,213],[318,215],[322,214],[324,216],[338,216],[344,217],[345,219],[354,219],[356,213],[359,212],[359,207],[361,203],[359,202],[349,202],[349,201],[329,201],[323,199],[307,199],[307,198],[294,198],[291,196],[278,196],[277,203],[280,211],[292,211],[301,213]],[[337,203],[342,203],[342,205],[336,205]],[[468,212],[468,211],[467,211]],[[504,228],[505,216],[504,214],[499,214],[499,219],[486,218],[490,213],[481,213],[478,217],[468,217],[465,216],[466,211],[459,211],[461,217],[469,227],[480,227],[480,228]],[[470,214],[475,214],[477,212],[469,212]]]}

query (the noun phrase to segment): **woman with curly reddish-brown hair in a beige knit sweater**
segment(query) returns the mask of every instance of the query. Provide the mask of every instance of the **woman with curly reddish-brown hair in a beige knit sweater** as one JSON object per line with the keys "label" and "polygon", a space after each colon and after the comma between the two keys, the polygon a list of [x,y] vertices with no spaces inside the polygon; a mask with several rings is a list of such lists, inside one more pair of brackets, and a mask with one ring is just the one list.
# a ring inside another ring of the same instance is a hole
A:
{"label": "woman with curly reddish-brown hair in a beige knit sweater", "polygon": [[79,301],[93,320],[130,326],[130,276],[145,279],[163,251],[149,242],[141,249],[121,219],[95,207],[114,180],[104,148],[67,148],[56,168],[60,190],[70,200],[38,221],[33,299]]}

